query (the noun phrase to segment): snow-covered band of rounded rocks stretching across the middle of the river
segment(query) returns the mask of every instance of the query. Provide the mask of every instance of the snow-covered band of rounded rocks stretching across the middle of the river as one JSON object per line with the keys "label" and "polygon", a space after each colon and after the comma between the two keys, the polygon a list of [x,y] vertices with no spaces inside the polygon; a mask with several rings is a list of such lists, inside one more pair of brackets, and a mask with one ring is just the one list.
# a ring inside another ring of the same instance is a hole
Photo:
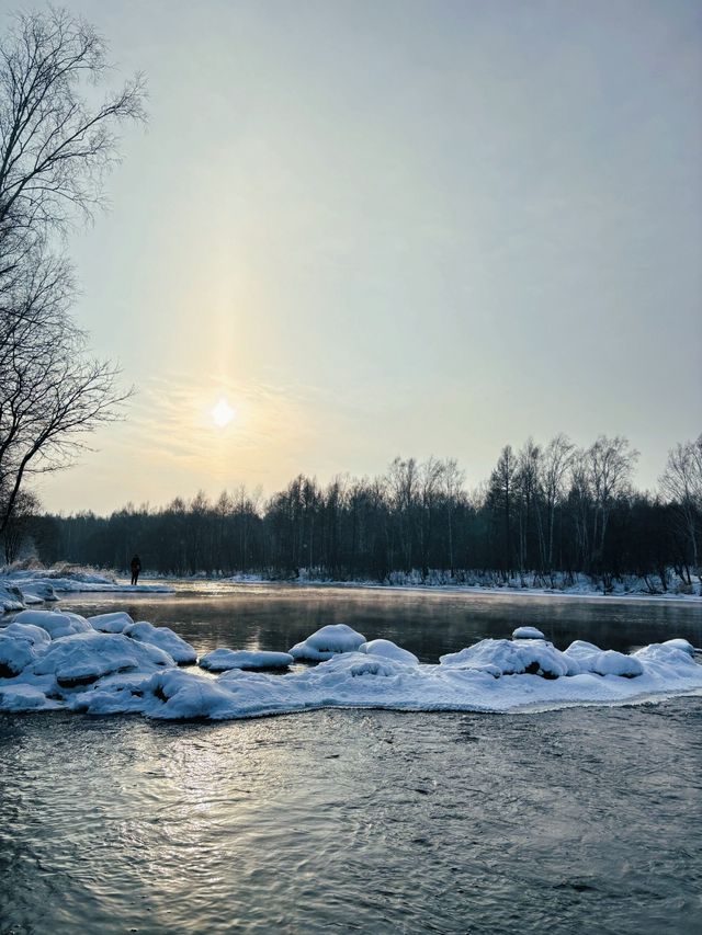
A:
{"label": "snow-covered band of rounded rocks stretching across the middle of the river", "polygon": [[[192,659],[194,649],[168,627],[129,623],[126,614],[94,622],[107,629],[124,624],[124,631],[102,632],[78,615],[50,611],[25,611],[0,629],[0,710],[222,720],[333,707],[535,711],[702,695],[702,665],[682,639],[632,654],[584,640],[562,652],[544,639],[485,639],[439,664],[419,664],[389,640],[366,642],[336,625],[299,645],[331,655],[316,666],[287,674],[236,668],[213,677],[178,668],[174,654]],[[79,629],[65,632],[71,627]],[[208,657],[239,665],[291,658],[227,649]]]}

